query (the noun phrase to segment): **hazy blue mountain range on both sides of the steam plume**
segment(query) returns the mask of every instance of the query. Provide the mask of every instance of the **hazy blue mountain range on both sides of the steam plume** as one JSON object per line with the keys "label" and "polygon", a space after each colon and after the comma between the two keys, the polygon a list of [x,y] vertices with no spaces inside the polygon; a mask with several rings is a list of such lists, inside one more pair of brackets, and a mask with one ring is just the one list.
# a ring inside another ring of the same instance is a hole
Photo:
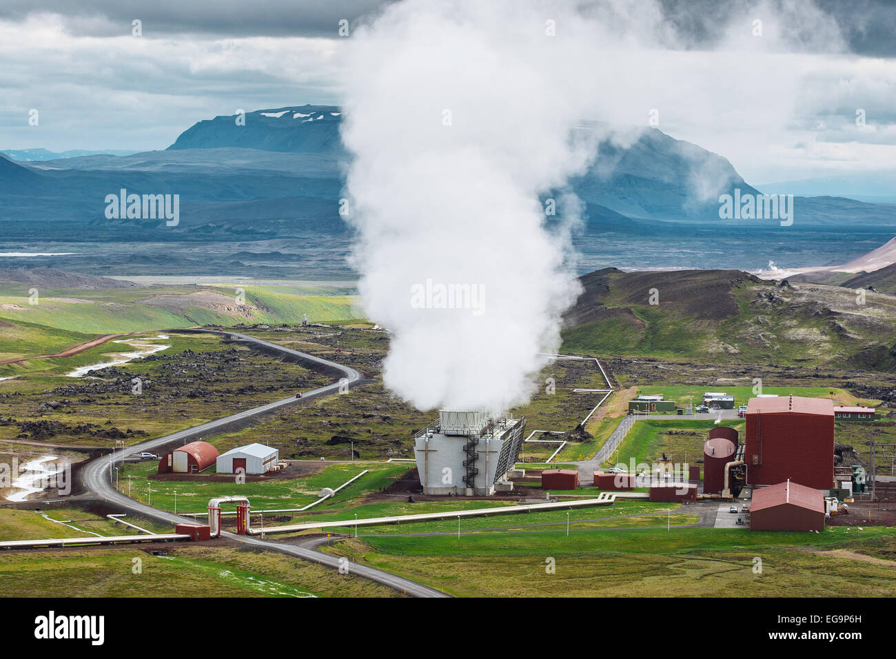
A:
{"label": "hazy blue mountain range on both sides of the steam plume", "polygon": [[[28,163],[0,156],[0,236],[15,239],[15,252],[64,243],[53,251],[78,254],[51,264],[94,274],[132,274],[132,266],[198,274],[212,267],[207,255],[213,253],[220,259],[214,263],[232,265],[233,274],[315,278],[323,268],[350,277],[345,256],[352,230],[338,212],[349,164],[342,117],[336,106],[306,104],[246,113],[245,125],[238,116],[203,120],[164,151]],[[582,127],[606,134],[608,126]],[[892,238],[896,206],[839,197],[795,199],[786,228],[774,219],[720,220],[719,195],[758,192],[728,160],[656,128],[615,126],[614,132],[621,139],[599,143],[594,165],[570,181],[582,200],[584,221],[575,234],[580,272],[603,264],[753,269],[770,260],[798,267],[858,256]],[[178,195],[177,225],[108,219],[105,200],[122,189]],[[97,250],[104,254],[99,261]],[[295,265],[233,256],[277,250]],[[0,256],[0,267],[47,264],[16,259]]]}

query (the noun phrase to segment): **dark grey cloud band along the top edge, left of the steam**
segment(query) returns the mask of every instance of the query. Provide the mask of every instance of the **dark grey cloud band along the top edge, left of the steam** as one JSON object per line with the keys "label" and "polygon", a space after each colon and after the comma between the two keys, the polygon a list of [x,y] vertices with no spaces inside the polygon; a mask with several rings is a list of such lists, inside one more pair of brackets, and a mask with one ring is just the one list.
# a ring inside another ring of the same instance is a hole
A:
{"label": "dark grey cloud band along the top edge, left of the steam", "polygon": [[129,34],[139,19],[143,35],[207,34],[225,37],[335,37],[342,19],[356,22],[383,0],[4,0],[0,20],[58,13],[75,36]]}

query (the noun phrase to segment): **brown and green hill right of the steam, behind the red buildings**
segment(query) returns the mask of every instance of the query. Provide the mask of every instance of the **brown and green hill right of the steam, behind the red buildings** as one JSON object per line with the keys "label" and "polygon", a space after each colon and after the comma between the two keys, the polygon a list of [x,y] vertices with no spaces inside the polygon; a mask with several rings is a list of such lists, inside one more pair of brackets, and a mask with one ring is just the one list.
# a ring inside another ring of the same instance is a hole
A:
{"label": "brown and green hill right of the steam, behind the red buildings", "polygon": [[713,363],[769,362],[889,370],[896,297],[815,283],[769,282],[737,270],[580,278],[564,350]]}

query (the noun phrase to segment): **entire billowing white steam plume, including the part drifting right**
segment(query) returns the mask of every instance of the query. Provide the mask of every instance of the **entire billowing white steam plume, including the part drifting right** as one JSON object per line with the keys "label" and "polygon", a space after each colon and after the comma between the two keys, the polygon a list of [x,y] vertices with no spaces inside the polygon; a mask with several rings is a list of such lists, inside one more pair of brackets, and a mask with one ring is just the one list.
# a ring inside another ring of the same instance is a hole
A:
{"label": "entire billowing white steam plume, including the part drifting right", "polygon": [[[751,35],[755,15],[732,14],[723,40],[787,48],[780,10],[762,13],[762,38]],[[611,126],[645,126],[651,108],[673,128],[685,111],[711,122],[720,84],[725,107],[743,113],[724,121],[749,124],[771,106],[778,114],[762,126],[778,126],[787,104],[743,81],[793,82],[762,53],[681,48],[659,3],[642,0],[405,0],[354,30],[346,57],[360,293],[367,316],[394,332],[386,386],[423,410],[504,412],[532,393],[578,293],[569,227],[579,204],[558,199],[563,221],[547,230],[541,197],[599,158],[599,141],[640,134]],[[582,126],[591,118],[609,123]],[[442,297],[451,287],[466,297]]]}

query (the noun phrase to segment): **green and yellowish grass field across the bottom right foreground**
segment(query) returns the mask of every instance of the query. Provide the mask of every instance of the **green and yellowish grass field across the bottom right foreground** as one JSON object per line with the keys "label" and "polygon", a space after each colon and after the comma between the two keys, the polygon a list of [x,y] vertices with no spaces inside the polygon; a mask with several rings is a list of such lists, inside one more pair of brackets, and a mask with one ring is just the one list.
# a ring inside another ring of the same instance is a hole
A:
{"label": "green and yellowish grass field across the bottom right foreground", "polygon": [[[366,536],[337,542],[332,551],[458,596],[892,597],[892,561],[855,555],[892,551],[894,544],[896,530],[880,527],[810,535],[575,526],[569,536],[565,529],[460,539]],[[834,548],[855,553],[819,553]]]}

